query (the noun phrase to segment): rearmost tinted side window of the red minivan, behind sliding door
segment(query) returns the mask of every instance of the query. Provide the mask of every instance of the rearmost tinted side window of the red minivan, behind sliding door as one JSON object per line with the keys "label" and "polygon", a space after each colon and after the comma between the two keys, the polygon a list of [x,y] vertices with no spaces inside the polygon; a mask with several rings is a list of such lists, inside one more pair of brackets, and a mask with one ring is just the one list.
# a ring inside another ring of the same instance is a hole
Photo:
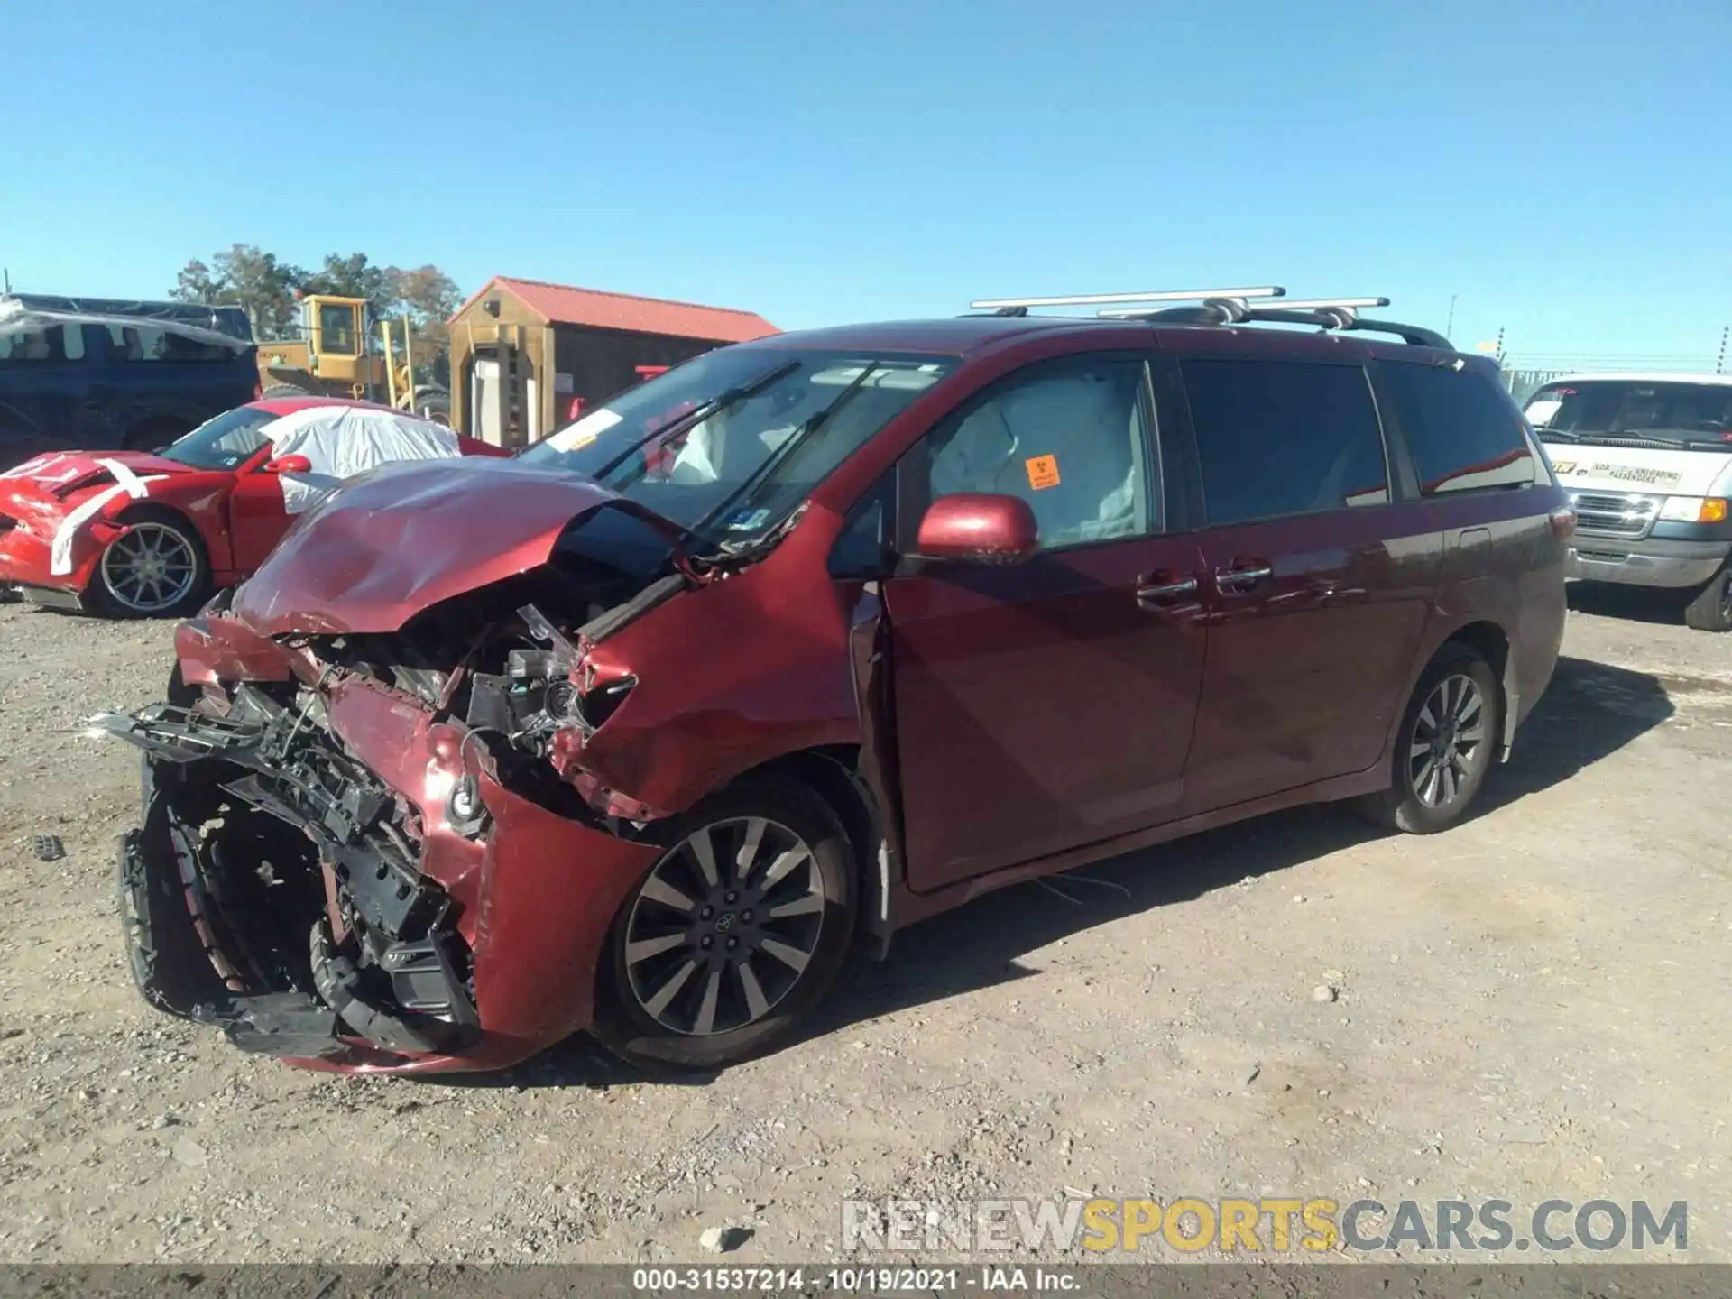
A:
{"label": "rearmost tinted side window of the red minivan, behind sliding door", "polygon": [[1384,365],[1424,495],[1531,487],[1533,449],[1509,395],[1477,371]]}

